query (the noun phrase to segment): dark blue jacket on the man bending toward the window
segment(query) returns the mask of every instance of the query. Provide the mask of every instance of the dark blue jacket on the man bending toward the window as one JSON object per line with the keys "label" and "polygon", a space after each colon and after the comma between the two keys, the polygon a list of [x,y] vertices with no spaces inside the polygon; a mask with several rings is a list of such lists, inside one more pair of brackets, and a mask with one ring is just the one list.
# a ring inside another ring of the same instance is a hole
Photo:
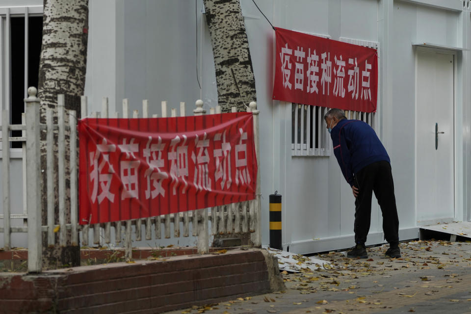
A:
{"label": "dark blue jacket on the man bending toward the window", "polygon": [[330,133],[340,169],[353,185],[353,176],[365,166],[381,160],[391,162],[374,130],[360,120],[340,120]]}

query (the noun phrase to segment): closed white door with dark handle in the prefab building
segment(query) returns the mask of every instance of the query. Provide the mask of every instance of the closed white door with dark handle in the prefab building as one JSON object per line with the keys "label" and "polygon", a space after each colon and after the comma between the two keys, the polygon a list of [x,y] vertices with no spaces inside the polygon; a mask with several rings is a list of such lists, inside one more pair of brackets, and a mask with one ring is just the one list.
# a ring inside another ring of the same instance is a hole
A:
{"label": "closed white door with dark handle in the prefab building", "polygon": [[452,54],[417,52],[418,225],[454,217],[453,62]]}

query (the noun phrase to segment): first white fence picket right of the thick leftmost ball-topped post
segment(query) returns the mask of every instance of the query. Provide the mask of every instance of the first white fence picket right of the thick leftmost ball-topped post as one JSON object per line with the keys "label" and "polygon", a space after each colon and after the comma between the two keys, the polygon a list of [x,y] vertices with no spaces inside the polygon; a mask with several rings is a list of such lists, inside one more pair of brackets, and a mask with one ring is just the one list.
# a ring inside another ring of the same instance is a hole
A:
{"label": "first white fence picket right of the thick leftmost ball-topped post", "polygon": [[47,180],[47,199],[48,199],[48,244],[55,244],[54,236],[54,151],[52,145],[54,142],[52,108],[46,108],[46,180]]}

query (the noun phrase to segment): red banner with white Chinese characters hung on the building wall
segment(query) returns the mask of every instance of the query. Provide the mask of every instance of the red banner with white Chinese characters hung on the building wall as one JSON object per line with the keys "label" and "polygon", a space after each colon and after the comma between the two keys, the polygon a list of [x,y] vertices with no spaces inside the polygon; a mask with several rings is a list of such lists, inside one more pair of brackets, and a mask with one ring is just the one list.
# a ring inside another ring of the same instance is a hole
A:
{"label": "red banner with white Chinese characters hung on the building wall", "polygon": [[375,49],[276,28],[273,99],[375,112]]}

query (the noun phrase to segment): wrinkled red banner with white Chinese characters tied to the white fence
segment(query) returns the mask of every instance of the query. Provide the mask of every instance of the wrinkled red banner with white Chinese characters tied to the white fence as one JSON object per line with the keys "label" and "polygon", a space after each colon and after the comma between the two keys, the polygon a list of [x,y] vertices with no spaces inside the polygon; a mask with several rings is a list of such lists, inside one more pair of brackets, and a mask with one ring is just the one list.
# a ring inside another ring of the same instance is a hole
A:
{"label": "wrinkled red banner with white Chinese characters tied to the white fence", "polygon": [[87,118],[78,134],[80,224],[255,198],[252,113]]}

